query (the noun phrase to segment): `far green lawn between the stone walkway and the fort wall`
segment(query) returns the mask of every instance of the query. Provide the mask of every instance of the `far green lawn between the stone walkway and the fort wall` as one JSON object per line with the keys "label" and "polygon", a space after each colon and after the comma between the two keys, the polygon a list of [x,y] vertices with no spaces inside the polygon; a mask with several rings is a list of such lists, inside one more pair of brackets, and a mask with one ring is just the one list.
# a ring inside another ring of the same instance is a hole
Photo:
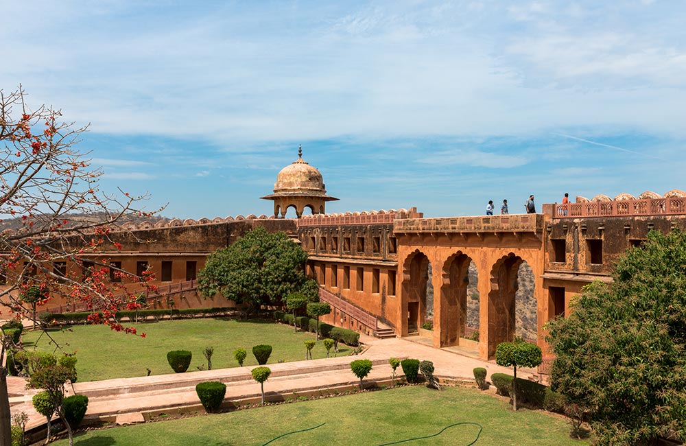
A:
{"label": "far green lawn between the stone walkway and the fort wall", "polygon": [[[237,367],[233,351],[238,348],[248,351],[244,365],[256,365],[252,346],[257,344],[273,347],[269,364],[279,360],[305,360],[305,340],[315,338],[314,333],[295,333],[293,327],[255,320],[209,318],[145,322],[134,326],[147,336],[141,338],[116,333],[104,325],[77,325],[54,329],[43,333],[43,336],[40,336],[40,331],[25,332],[22,338],[27,350],[36,347],[41,351],[55,351],[55,344],[47,336],[49,334],[63,351],[75,351],[80,382],[145,376],[146,368],[150,368],[152,375],[174,373],[167,363],[167,351],[171,350],[193,353],[189,371],[196,371],[196,367],[201,365],[206,367],[202,354],[205,347],[214,347],[212,368]],[[340,355],[350,353],[350,347],[342,344],[340,347]],[[333,349],[331,353],[333,355]],[[317,342],[312,357],[317,359],[326,355],[322,342]]]}

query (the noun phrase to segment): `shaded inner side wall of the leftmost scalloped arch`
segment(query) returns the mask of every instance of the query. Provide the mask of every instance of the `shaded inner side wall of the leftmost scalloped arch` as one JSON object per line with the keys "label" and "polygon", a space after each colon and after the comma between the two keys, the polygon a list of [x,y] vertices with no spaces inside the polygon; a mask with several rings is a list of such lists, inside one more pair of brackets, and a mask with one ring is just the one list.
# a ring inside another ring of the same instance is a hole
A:
{"label": "shaded inner side wall of the leftmost scalloped arch", "polygon": [[403,263],[403,335],[416,333],[425,322],[429,257],[416,249]]}

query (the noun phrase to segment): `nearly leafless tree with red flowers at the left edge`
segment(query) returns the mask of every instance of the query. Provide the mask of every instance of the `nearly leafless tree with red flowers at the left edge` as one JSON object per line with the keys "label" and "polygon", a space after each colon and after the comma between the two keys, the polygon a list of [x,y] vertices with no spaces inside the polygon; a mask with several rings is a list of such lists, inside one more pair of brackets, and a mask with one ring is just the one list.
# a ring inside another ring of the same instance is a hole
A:
{"label": "nearly leafless tree with red flowers at the left edge", "polygon": [[[62,121],[60,110],[31,108],[21,86],[0,90],[0,224],[21,226],[0,232],[1,316],[35,321],[34,306],[60,296],[91,309],[91,323],[136,334],[119,323],[117,309],[136,309],[137,292],[149,290],[154,276],[113,271],[97,253],[121,248],[113,233],[123,231],[130,213],[154,212],[139,209],[147,194],[99,189],[102,170],[75,148],[87,128]],[[118,280],[110,281],[110,274]],[[140,286],[127,291],[124,277]],[[3,337],[0,358],[10,348],[12,340]],[[7,374],[1,362],[0,446],[11,443]]]}

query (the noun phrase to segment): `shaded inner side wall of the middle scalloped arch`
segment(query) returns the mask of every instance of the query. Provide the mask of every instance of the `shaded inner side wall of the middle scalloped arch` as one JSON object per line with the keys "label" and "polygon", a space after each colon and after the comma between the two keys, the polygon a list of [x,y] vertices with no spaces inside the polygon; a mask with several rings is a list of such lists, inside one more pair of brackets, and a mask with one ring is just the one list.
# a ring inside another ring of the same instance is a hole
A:
{"label": "shaded inner side wall of the middle scalloped arch", "polygon": [[458,345],[464,337],[469,264],[472,259],[458,251],[448,257],[441,270],[440,347]]}

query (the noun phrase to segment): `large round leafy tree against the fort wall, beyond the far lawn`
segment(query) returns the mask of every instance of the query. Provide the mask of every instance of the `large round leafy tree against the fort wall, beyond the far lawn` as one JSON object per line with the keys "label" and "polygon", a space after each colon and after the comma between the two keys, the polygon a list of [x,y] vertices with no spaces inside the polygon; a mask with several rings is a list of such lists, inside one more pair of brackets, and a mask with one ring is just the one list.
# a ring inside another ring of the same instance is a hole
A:
{"label": "large round leafy tree against the fort wall, beyond the far lawn", "polygon": [[198,273],[198,289],[209,297],[221,293],[251,310],[282,303],[307,281],[306,261],[307,253],[285,233],[258,227],[207,257]]}

